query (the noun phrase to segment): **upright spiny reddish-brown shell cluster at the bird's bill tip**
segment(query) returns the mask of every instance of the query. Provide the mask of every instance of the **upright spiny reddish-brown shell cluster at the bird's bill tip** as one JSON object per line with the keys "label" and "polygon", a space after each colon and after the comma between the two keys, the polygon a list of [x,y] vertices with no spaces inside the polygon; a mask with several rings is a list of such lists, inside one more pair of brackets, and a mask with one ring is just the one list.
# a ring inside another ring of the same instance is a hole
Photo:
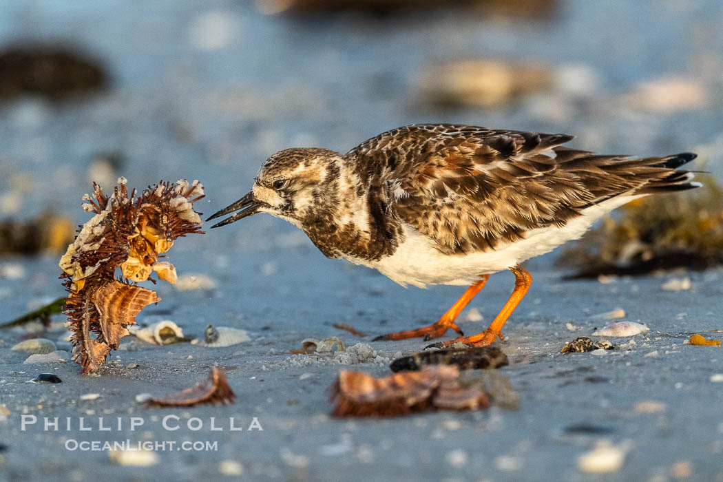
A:
{"label": "upright spiny reddish-brown shell cluster at the bird's bill tip", "polygon": [[[111,196],[93,184],[83,209],[95,213],[82,225],[60,260],[61,279],[69,296],[64,313],[72,331],[72,359],[87,374],[98,369],[111,349],[118,348],[127,326],[143,307],[161,301],[155,291],[135,285],[155,271],[174,283],[176,269],[158,262],[176,238],[202,233],[193,204],[204,197],[198,181],[161,181],[137,196],[119,178]],[[117,279],[116,268],[122,275]],[[95,337],[93,337],[95,335]]]}

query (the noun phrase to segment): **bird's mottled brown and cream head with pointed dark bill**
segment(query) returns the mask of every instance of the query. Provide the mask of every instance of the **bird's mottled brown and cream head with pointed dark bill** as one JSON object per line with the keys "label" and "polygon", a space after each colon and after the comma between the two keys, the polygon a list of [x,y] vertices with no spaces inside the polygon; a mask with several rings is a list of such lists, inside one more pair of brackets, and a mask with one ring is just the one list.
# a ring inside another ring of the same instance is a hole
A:
{"label": "bird's mottled brown and cream head with pointed dark bill", "polygon": [[261,166],[254,186],[234,204],[210,216],[234,215],[216,225],[234,223],[257,212],[268,212],[299,225],[299,221],[328,201],[338,186],[341,155],[315,147],[296,147],[276,152]]}

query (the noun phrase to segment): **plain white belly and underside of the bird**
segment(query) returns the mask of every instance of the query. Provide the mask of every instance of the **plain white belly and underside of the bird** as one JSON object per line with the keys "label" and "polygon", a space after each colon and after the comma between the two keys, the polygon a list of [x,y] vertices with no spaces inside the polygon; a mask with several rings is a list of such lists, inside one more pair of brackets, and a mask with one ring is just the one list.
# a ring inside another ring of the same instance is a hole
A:
{"label": "plain white belly and underside of the bird", "polygon": [[526,259],[552,251],[560,244],[580,238],[594,221],[605,213],[641,196],[609,199],[583,211],[562,228],[549,226],[529,231],[520,241],[499,246],[494,251],[472,254],[442,254],[433,241],[410,225],[404,225],[405,241],[390,257],[369,262],[345,257],[354,264],[375,268],[400,285],[471,285],[479,275],[507,270]]}

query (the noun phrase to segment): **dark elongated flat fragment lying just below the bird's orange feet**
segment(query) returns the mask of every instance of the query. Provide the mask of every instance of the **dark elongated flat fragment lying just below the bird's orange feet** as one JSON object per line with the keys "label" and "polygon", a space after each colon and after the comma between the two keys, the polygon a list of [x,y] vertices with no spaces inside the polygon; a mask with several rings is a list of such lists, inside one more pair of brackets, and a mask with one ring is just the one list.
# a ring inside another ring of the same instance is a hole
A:
{"label": "dark elongated flat fragment lying just below the bird's orange feet", "polygon": [[454,365],[460,370],[497,369],[508,366],[510,361],[496,346],[476,348],[449,348],[447,350],[425,350],[411,356],[392,361],[392,371],[419,370],[429,365]]}

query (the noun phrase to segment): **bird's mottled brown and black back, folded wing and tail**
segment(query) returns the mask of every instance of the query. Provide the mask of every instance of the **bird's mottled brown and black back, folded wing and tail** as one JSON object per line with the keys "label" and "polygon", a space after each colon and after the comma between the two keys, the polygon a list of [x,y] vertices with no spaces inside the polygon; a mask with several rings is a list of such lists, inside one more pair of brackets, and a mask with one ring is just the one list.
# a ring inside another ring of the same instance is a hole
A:
{"label": "bird's mottled brown and black back, folded wing and tail", "polygon": [[567,134],[416,125],[369,139],[347,153],[379,173],[389,212],[437,242],[445,253],[487,251],[527,231],[562,226],[620,194],[690,189],[675,171],[695,155],[630,159],[561,145]]}

